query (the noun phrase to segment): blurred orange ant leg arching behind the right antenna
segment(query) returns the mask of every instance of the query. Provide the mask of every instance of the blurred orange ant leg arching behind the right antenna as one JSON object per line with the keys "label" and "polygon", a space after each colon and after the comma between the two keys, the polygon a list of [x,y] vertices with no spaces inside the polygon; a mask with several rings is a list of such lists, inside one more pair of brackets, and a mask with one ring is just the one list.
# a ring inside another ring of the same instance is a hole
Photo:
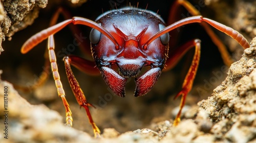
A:
{"label": "blurred orange ant leg arching behind the right antenna", "polygon": [[[172,8],[170,9],[170,15],[169,15],[169,22],[174,22],[174,15],[178,10],[179,6],[183,6],[185,9],[187,9],[189,11],[189,13],[193,16],[196,15],[201,15],[201,13],[193,6],[191,5],[188,1],[186,0],[177,0],[174,2]],[[223,62],[227,65],[230,66],[234,61],[231,58],[230,54],[227,51],[226,46],[223,44],[223,42],[221,41],[221,39],[214,33],[214,31],[211,30],[211,28],[209,27],[209,25],[207,25],[207,23],[200,23],[201,26],[205,29],[205,31],[207,32],[207,34],[210,36],[212,42],[214,42],[221,54],[221,57],[223,59]]]}

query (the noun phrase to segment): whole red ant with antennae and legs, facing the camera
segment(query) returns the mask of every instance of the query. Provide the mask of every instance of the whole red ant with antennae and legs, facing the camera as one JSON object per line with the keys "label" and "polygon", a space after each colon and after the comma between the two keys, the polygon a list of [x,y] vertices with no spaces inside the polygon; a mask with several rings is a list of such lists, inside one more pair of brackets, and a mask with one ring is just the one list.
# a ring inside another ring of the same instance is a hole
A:
{"label": "whole red ant with antennae and legs, facing the camera", "polygon": [[[187,1],[176,1],[173,7],[177,7],[177,5],[183,5],[190,10],[193,15],[200,14],[199,11],[193,8]],[[52,23],[56,21],[56,15],[58,15],[58,12],[51,21]],[[67,19],[32,36],[24,43],[21,52],[23,54],[29,52],[42,40],[48,38],[48,50],[53,78],[58,95],[61,97],[63,105],[66,108],[67,125],[72,126],[72,113],[65,98],[65,91],[62,88],[58,74],[53,34],[70,23],[93,28],[90,33],[90,41],[94,62],[75,55],[68,55],[63,58],[63,61],[65,62],[68,80],[76,100],[78,104],[86,110],[95,136],[99,136],[100,130],[93,122],[89,110],[89,106],[93,105],[87,102],[70,65],[75,66],[85,73],[95,73],[97,72],[95,68],[96,64],[106,84],[119,97],[125,97],[125,84],[127,79],[138,76],[142,67],[148,66],[150,69],[142,76],[135,78],[136,88],[134,95],[135,97],[140,97],[144,96],[153,88],[162,70],[173,68],[189,49],[195,47],[194,58],[183,82],[182,89],[175,97],[182,96],[180,110],[174,121],[174,126],[176,126],[180,122],[181,110],[197,73],[201,45],[199,39],[194,39],[186,42],[178,49],[172,51],[172,53],[169,53],[168,32],[187,25],[188,23],[195,22],[203,22],[202,26],[206,29],[211,39],[218,45],[221,50],[222,58],[227,65],[231,64],[229,55],[217,36],[209,29],[207,23],[235,39],[244,49],[249,47],[247,40],[237,31],[202,16],[187,17],[166,27],[162,18],[156,13],[127,7],[105,12],[96,19],[96,22],[82,17]],[[113,68],[116,66],[120,74]]]}

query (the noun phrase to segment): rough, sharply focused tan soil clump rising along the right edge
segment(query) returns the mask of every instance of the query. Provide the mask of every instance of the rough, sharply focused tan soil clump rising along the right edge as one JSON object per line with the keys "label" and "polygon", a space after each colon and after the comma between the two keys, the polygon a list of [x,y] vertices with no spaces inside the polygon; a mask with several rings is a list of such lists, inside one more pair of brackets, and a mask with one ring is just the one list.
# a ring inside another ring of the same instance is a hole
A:
{"label": "rough, sharply focused tan soil clump rising along the right edge", "polygon": [[256,38],[243,57],[233,63],[227,78],[207,100],[198,103],[214,126],[216,139],[232,142],[255,141],[256,136]]}

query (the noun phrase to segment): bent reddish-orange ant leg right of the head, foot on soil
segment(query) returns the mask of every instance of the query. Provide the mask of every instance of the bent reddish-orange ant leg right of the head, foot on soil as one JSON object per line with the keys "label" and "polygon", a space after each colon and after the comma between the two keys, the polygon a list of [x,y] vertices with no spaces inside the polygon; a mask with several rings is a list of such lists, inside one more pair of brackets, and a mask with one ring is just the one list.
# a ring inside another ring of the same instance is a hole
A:
{"label": "bent reddish-orange ant leg right of the head, foot on soil", "polygon": [[[179,59],[187,52],[191,47],[195,47],[195,54],[193,57],[193,61],[191,62],[191,65],[189,67],[189,70],[187,72],[187,75],[185,77],[185,80],[182,85],[181,91],[177,94],[175,97],[178,98],[179,96],[181,97],[181,102],[180,102],[180,110],[174,120],[174,126],[177,126],[180,122],[180,116],[181,116],[181,111],[182,108],[185,105],[185,100],[187,93],[191,90],[194,79],[197,73],[198,65],[199,65],[199,60],[200,60],[200,52],[201,52],[201,41],[199,39],[191,40],[179,47],[177,50],[173,52],[172,57],[170,57],[170,62],[174,61],[174,65],[179,61]],[[175,55],[175,56],[174,56]],[[174,66],[173,65],[173,66]]]}

